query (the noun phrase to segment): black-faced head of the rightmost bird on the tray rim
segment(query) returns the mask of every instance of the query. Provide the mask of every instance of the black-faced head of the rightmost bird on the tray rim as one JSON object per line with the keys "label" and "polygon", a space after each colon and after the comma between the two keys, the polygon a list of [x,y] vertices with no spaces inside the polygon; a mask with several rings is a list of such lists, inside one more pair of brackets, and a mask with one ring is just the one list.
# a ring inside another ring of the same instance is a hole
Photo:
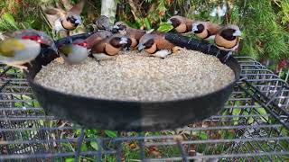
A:
{"label": "black-faced head of the rightmost bird on the tray rim", "polygon": [[237,25],[228,24],[219,33],[226,40],[235,40],[236,37],[241,37],[242,32]]}

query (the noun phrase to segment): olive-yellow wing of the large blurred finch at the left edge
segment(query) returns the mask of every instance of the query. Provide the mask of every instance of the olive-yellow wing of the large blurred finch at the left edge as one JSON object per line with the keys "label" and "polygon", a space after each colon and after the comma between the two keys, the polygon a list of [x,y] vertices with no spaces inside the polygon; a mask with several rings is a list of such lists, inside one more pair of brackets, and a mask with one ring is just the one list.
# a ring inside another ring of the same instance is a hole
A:
{"label": "olive-yellow wing of the large blurred finch at the left edge", "polygon": [[8,39],[0,42],[0,54],[12,58],[16,50],[25,49],[25,45],[16,39]]}

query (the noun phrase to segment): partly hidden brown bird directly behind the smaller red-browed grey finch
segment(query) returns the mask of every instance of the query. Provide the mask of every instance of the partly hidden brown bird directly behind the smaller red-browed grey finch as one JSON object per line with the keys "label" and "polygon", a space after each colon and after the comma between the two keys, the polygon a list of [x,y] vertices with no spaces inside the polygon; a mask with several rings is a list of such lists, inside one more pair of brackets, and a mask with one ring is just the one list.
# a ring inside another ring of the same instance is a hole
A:
{"label": "partly hidden brown bird directly behind the smaller red-browed grey finch", "polygon": [[104,40],[110,36],[112,36],[111,31],[98,31],[94,34],[90,35],[85,41],[88,43],[88,48],[92,48],[93,45],[98,43],[100,40]]}

